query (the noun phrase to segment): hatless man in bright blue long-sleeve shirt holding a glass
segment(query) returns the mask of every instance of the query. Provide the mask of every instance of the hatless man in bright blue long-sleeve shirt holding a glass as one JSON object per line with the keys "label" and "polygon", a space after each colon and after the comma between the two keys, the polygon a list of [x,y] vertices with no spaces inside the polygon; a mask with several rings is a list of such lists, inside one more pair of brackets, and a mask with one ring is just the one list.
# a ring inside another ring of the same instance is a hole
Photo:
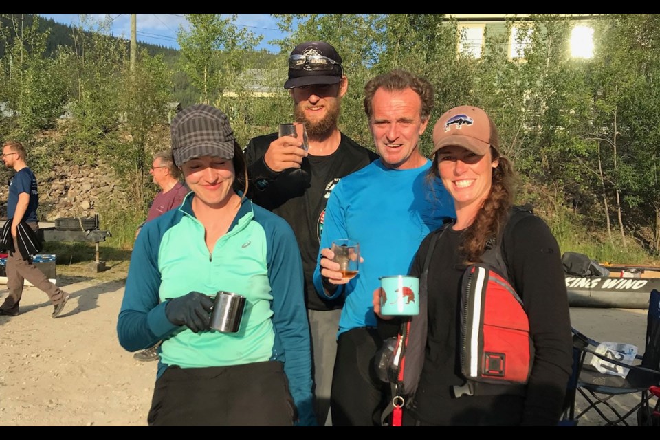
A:
{"label": "hatless man in bright blue long-sleeve shirt holding a glass", "polygon": [[[419,151],[433,108],[432,85],[397,69],[369,81],[364,91],[380,160],[344,177],[331,193],[314,272],[318,292],[345,298],[331,391],[333,426],[373,426],[380,419],[385,393],[371,373],[382,344],[373,291],[381,276],[408,274],[422,239],[454,217],[441,182],[425,181],[431,162]],[[330,250],[333,240],[345,238],[360,242],[364,258],[350,281],[342,279]]]}

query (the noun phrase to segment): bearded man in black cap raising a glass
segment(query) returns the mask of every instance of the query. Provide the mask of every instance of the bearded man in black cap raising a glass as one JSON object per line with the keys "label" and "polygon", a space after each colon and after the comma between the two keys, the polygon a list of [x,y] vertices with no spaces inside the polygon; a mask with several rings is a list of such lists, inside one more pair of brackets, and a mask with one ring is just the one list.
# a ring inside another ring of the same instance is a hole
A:
{"label": "bearded man in black cap raising a glass", "polygon": [[324,41],[300,43],[289,56],[289,79],[284,87],[294,100],[296,122],[303,122],[307,128],[309,152],[300,148],[300,140],[278,138],[278,133],[255,137],[245,148],[252,201],[289,222],[303,256],[316,415],[321,426],[329,412],[342,307],[341,300],[322,300],[312,283],[325,205],[342,177],[378,157],[337,127],[348,85],[342,57],[334,47]]}

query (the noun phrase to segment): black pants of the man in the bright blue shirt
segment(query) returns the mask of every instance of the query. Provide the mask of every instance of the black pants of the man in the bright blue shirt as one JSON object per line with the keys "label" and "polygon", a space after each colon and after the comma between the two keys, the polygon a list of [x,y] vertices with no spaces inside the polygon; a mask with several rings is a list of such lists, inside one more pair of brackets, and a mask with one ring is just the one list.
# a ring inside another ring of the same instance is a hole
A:
{"label": "black pants of the man in the bright blue shirt", "polygon": [[373,357],[382,340],[376,329],[345,331],[337,342],[330,408],[332,426],[379,426],[386,387],[378,380]]}

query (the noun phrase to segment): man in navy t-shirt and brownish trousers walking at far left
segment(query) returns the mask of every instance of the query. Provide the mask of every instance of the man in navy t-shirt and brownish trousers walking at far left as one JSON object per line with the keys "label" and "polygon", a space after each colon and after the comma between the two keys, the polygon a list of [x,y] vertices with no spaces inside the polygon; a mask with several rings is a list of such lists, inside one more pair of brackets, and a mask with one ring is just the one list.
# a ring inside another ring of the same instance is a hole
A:
{"label": "man in navy t-shirt and brownish trousers walking at far left", "polygon": [[[7,199],[7,222],[11,223],[11,238],[13,241],[13,252],[10,250],[7,256],[7,289],[9,296],[5,298],[0,306],[0,315],[17,316],[19,314],[19,303],[23,296],[23,283],[30,281],[34,287],[46,292],[50,302],[54,306],[52,317],[57,318],[62,313],[69,294],[51,283],[48,278],[32,264],[32,256],[23,254],[20,249],[25,248],[24,234],[19,235],[19,230],[27,225],[30,230],[39,230],[39,222],[36,217],[36,208],[39,207],[39,192],[36,186],[36,177],[25,163],[25,148],[20,142],[5,142],[2,147],[2,160],[8,168],[13,168],[16,173],[9,181],[9,197]],[[21,225],[21,223],[24,223]],[[7,225],[5,225],[5,228]],[[23,230],[25,231],[25,230]],[[30,245],[28,245],[30,248]]]}

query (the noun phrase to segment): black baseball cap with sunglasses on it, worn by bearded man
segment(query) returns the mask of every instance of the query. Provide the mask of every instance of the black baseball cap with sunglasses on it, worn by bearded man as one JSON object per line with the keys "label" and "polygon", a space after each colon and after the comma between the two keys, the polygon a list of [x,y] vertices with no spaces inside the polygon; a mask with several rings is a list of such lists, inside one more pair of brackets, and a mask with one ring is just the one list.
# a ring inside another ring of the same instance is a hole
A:
{"label": "black baseball cap with sunglasses on it, worn by bearded man", "polygon": [[[291,57],[294,55],[322,56],[329,58],[332,63],[327,65],[327,69],[314,69],[309,64],[304,63],[298,67],[292,67]],[[331,44],[325,41],[305,41],[300,43],[291,54],[289,54],[289,79],[284,83],[285,89],[294,87],[303,87],[314,84],[337,84],[342,80],[342,57]]]}

